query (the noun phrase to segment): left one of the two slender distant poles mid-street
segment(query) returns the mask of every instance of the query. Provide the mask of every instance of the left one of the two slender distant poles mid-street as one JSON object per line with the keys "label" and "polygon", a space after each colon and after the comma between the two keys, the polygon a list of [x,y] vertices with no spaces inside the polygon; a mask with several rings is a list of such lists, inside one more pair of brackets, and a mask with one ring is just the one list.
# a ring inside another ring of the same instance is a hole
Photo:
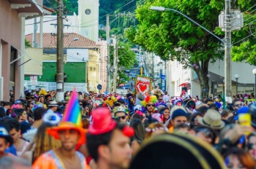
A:
{"label": "left one of the two slender distant poles mid-street", "polygon": [[109,15],[107,15],[107,45],[108,45],[108,56],[107,56],[107,92],[110,92],[110,25],[109,25]]}

